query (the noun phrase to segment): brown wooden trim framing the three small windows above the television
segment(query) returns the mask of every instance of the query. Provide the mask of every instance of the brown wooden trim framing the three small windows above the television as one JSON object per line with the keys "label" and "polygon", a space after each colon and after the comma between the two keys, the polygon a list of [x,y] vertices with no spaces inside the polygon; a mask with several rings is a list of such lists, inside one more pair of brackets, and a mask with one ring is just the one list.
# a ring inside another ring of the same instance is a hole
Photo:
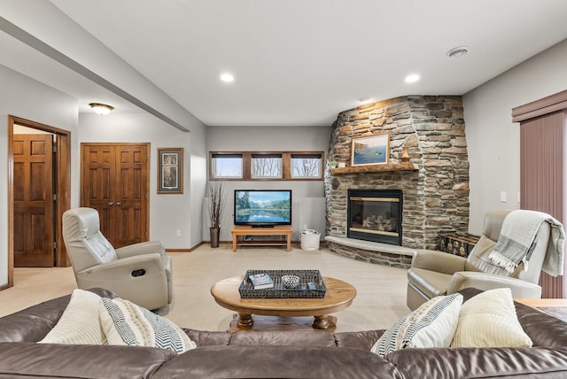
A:
{"label": "brown wooden trim framing the three small windows above the television", "polygon": [[[222,155],[242,155],[242,177],[225,178],[215,177],[213,172],[213,159]],[[282,177],[281,178],[254,178],[252,177],[252,155],[281,155],[282,156]],[[321,172],[318,177],[292,177],[291,176],[291,157],[297,155],[319,155],[321,156]],[[209,181],[226,182],[278,182],[278,181],[322,181],[325,163],[324,151],[209,151]]]}

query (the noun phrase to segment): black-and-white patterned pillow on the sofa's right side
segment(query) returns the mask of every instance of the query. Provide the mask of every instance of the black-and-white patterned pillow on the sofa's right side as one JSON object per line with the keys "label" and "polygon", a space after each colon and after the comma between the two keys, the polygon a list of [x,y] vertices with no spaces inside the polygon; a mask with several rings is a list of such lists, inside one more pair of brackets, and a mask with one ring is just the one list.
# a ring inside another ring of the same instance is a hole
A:
{"label": "black-and-white patterned pillow on the sofa's right side", "polygon": [[370,351],[384,357],[408,347],[449,347],[461,305],[459,293],[431,298],[387,329]]}

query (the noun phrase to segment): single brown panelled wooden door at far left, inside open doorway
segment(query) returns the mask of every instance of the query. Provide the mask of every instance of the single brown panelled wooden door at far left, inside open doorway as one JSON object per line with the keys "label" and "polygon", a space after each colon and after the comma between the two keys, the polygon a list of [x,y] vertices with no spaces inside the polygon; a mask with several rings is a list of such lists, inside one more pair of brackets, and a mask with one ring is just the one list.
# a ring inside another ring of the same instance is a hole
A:
{"label": "single brown panelled wooden door at far left, inside open doorway", "polygon": [[13,136],[15,267],[53,267],[53,136]]}

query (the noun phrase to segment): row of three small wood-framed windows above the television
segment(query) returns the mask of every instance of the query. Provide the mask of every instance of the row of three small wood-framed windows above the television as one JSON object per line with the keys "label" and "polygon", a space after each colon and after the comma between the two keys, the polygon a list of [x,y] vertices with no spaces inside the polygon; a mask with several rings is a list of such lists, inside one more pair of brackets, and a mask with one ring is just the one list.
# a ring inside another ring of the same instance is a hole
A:
{"label": "row of three small wood-framed windows above the television", "polygon": [[322,181],[322,151],[211,151],[210,181]]}

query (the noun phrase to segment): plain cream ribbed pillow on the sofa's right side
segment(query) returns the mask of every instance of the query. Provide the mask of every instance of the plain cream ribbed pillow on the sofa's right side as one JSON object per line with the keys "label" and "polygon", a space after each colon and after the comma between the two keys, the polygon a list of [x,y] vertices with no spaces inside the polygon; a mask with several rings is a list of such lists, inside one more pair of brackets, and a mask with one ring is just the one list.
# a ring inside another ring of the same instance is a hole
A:
{"label": "plain cream ribbed pillow on the sofa's right side", "polygon": [[486,290],[461,307],[451,347],[532,347],[509,288]]}

